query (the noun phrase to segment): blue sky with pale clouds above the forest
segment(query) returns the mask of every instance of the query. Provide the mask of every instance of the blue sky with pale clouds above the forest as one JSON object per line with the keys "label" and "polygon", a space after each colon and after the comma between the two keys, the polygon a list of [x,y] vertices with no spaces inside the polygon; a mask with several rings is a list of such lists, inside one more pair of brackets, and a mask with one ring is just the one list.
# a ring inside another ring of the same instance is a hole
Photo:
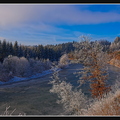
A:
{"label": "blue sky with pale clouds above the forest", "polygon": [[47,45],[120,36],[120,4],[0,4],[0,40]]}

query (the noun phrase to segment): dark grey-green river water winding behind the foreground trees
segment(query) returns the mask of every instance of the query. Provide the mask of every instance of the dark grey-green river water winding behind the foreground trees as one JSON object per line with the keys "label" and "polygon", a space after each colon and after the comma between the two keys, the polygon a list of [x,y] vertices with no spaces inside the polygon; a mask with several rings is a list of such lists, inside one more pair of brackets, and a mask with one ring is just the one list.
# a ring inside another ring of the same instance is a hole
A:
{"label": "dark grey-green river water winding behind the foreground trees", "polygon": [[[60,79],[70,82],[73,86],[78,86],[77,81],[79,78],[73,73],[81,67],[81,64],[71,64],[68,68],[59,72]],[[120,68],[111,65],[108,65],[108,68],[108,83],[114,84],[117,76],[119,78]],[[8,114],[16,109],[12,115],[65,114],[62,105],[56,103],[58,99],[57,95],[49,92],[52,87],[51,84],[48,84],[51,80],[51,75],[52,74],[29,81],[0,86],[0,114],[3,115],[8,106],[10,106]],[[81,89],[85,95],[90,96],[90,92],[88,91],[89,85],[82,85]]]}

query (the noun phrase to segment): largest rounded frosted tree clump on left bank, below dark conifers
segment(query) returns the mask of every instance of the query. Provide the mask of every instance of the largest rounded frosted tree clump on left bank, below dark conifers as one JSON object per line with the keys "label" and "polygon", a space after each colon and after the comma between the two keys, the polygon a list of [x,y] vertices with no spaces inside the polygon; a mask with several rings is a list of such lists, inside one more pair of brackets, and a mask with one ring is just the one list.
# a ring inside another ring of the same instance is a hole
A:
{"label": "largest rounded frosted tree clump on left bank, below dark conifers", "polygon": [[9,55],[3,61],[3,66],[8,73],[14,76],[24,77],[30,74],[29,62],[26,58]]}

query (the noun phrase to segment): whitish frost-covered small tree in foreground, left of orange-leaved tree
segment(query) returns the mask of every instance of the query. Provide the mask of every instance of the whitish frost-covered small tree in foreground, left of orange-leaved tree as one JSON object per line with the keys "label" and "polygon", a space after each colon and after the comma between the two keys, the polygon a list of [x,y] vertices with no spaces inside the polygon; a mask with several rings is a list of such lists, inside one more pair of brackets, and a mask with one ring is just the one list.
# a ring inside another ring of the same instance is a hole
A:
{"label": "whitish frost-covered small tree in foreground, left of orange-leaved tree", "polygon": [[82,90],[74,89],[70,83],[61,81],[58,76],[58,71],[54,69],[52,76],[52,88],[51,93],[56,93],[59,97],[58,104],[63,104],[65,114],[81,115],[87,107],[87,98],[82,93]]}

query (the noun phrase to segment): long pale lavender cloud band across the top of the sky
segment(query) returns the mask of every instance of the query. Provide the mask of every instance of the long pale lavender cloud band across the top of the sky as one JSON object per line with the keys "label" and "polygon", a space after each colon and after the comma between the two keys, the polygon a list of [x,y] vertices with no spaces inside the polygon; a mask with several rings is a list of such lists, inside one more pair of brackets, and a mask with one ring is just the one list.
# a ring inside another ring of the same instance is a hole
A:
{"label": "long pale lavender cloud band across the top of the sky", "polygon": [[0,5],[0,26],[31,22],[74,25],[119,21],[119,13],[93,12],[73,5]]}

